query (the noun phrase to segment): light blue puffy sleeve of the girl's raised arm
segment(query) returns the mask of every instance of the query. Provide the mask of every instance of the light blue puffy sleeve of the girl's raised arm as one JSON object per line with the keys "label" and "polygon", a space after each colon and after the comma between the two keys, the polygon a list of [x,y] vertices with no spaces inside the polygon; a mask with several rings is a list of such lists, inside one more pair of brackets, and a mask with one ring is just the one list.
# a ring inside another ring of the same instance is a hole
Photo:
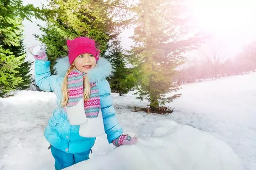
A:
{"label": "light blue puffy sleeve of the girl's raised arm", "polygon": [[50,61],[35,62],[36,85],[43,91],[55,91],[57,75],[51,75]]}

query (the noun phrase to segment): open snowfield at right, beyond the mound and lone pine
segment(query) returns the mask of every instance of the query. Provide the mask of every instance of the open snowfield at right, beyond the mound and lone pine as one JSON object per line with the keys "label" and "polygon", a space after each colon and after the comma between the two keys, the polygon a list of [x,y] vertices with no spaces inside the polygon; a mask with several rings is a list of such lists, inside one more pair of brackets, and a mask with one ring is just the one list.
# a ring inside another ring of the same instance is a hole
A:
{"label": "open snowfield at right, beyond the mound and lone pine", "polygon": [[256,73],[188,84],[170,106],[172,120],[225,141],[247,170],[256,169]]}

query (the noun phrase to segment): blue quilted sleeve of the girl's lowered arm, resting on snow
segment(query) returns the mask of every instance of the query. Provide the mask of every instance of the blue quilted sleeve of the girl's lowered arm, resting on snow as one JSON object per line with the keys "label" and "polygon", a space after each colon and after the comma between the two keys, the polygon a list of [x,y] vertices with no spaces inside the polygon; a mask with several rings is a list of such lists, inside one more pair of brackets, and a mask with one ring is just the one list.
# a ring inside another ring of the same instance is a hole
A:
{"label": "blue quilted sleeve of the girl's lowered arm, resting on snow", "polygon": [[110,84],[107,80],[103,80],[101,83],[101,112],[103,117],[105,133],[107,134],[108,143],[111,143],[114,139],[116,139],[123,133],[123,128],[118,123],[116,111],[113,107],[113,100],[110,95]]}

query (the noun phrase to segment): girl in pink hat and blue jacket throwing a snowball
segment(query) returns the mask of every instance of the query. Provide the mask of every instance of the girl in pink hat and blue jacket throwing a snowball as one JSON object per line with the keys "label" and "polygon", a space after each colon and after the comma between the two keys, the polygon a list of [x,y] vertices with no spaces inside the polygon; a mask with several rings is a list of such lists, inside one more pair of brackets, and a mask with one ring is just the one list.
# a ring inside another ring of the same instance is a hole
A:
{"label": "girl in pink hat and blue jacket throwing a snowball", "polygon": [[111,89],[106,78],[111,75],[111,64],[100,58],[95,41],[89,38],[68,40],[68,57],[54,66],[41,46],[28,49],[35,62],[35,81],[43,91],[53,91],[58,107],[49,119],[44,136],[50,143],[55,169],[89,159],[96,136],[107,134],[115,146],[137,142],[134,133],[123,134],[113,108]]}

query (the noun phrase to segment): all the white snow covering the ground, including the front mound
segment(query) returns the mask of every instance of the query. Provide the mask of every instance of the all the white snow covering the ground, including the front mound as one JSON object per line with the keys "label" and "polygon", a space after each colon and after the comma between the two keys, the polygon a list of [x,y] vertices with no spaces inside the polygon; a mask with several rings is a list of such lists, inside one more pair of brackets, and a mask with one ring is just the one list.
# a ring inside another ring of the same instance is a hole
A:
{"label": "all the white snow covering the ground, including the front mound", "polygon": [[[138,134],[138,143],[114,149],[102,135],[90,160],[67,169],[238,170],[241,160],[245,169],[255,170],[256,74],[188,84],[180,92],[170,115],[132,112],[134,105],[148,103],[132,92],[112,94],[120,124]],[[53,169],[43,132],[55,94],[15,93],[0,99],[0,170]]]}

